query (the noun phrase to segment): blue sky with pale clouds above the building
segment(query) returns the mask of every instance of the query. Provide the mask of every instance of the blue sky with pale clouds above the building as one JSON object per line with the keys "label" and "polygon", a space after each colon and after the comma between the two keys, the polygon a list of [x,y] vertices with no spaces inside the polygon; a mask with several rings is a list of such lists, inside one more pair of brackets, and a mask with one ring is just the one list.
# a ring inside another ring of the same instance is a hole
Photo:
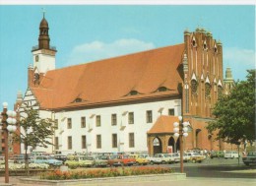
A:
{"label": "blue sky with pale clouds above the building", "polygon": [[221,39],[235,80],[255,68],[254,5],[1,5],[0,102],[10,108],[27,90],[42,8],[57,68],[182,43],[197,27]]}

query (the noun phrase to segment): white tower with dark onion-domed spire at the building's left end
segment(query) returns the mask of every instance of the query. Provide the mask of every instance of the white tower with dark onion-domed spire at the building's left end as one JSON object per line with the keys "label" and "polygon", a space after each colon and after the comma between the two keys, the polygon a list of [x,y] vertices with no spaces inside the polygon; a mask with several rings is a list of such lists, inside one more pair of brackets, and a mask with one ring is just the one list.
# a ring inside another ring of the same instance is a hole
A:
{"label": "white tower with dark onion-domed spire at the building's left end", "polygon": [[36,87],[40,77],[47,71],[55,69],[55,54],[57,50],[50,45],[48,22],[43,18],[39,25],[38,45],[32,47],[32,66],[29,68],[29,86]]}

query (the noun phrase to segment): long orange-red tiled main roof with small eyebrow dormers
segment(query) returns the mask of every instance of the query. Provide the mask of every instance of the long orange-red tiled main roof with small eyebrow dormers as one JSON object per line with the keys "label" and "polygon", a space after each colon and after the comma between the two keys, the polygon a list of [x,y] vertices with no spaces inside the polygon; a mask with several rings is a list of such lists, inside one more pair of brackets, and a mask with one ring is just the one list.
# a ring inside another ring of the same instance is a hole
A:
{"label": "long orange-red tiled main roof with small eyebrow dormers", "polygon": [[[183,51],[182,43],[48,71],[32,93],[49,109],[178,94]],[[156,92],[160,87],[169,91]]]}

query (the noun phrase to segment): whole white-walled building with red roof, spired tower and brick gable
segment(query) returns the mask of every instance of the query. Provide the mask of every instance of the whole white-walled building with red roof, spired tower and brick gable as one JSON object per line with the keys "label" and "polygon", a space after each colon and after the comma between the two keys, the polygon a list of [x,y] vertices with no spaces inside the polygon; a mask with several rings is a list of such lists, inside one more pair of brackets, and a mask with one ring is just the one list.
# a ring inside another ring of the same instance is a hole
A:
{"label": "whole white-walled building with red roof, spired tower and brick gable", "polygon": [[43,17],[20,109],[23,114],[32,106],[42,118],[57,121],[49,139],[54,146],[36,151],[177,151],[169,126],[180,115],[190,123],[185,149],[224,149],[205,129],[215,102],[233,82],[231,76],[224,82],[223,46],[211,32],[184,31],[180,44],[55,69],[57,50],[48,30]]}

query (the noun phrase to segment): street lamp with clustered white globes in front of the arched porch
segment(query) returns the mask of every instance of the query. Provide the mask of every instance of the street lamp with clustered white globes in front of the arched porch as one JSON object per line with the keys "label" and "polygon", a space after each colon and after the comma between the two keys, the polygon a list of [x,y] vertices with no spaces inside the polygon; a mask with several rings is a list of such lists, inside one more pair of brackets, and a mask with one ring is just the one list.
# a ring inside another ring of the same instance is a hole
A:
{"label": "street lamp with clustered white globes in front of the arched porch", "polygon": [[178,116],[178,122],[173,123],[173,132],[174,132],[174,137],[179,137],[179,148],[180,148],[180,172],[183,173],[183,136],[187,137],[187,131],[188,128],[187,126],[189,125],[188,122],[183,122],[182,123],[182,116]]}

